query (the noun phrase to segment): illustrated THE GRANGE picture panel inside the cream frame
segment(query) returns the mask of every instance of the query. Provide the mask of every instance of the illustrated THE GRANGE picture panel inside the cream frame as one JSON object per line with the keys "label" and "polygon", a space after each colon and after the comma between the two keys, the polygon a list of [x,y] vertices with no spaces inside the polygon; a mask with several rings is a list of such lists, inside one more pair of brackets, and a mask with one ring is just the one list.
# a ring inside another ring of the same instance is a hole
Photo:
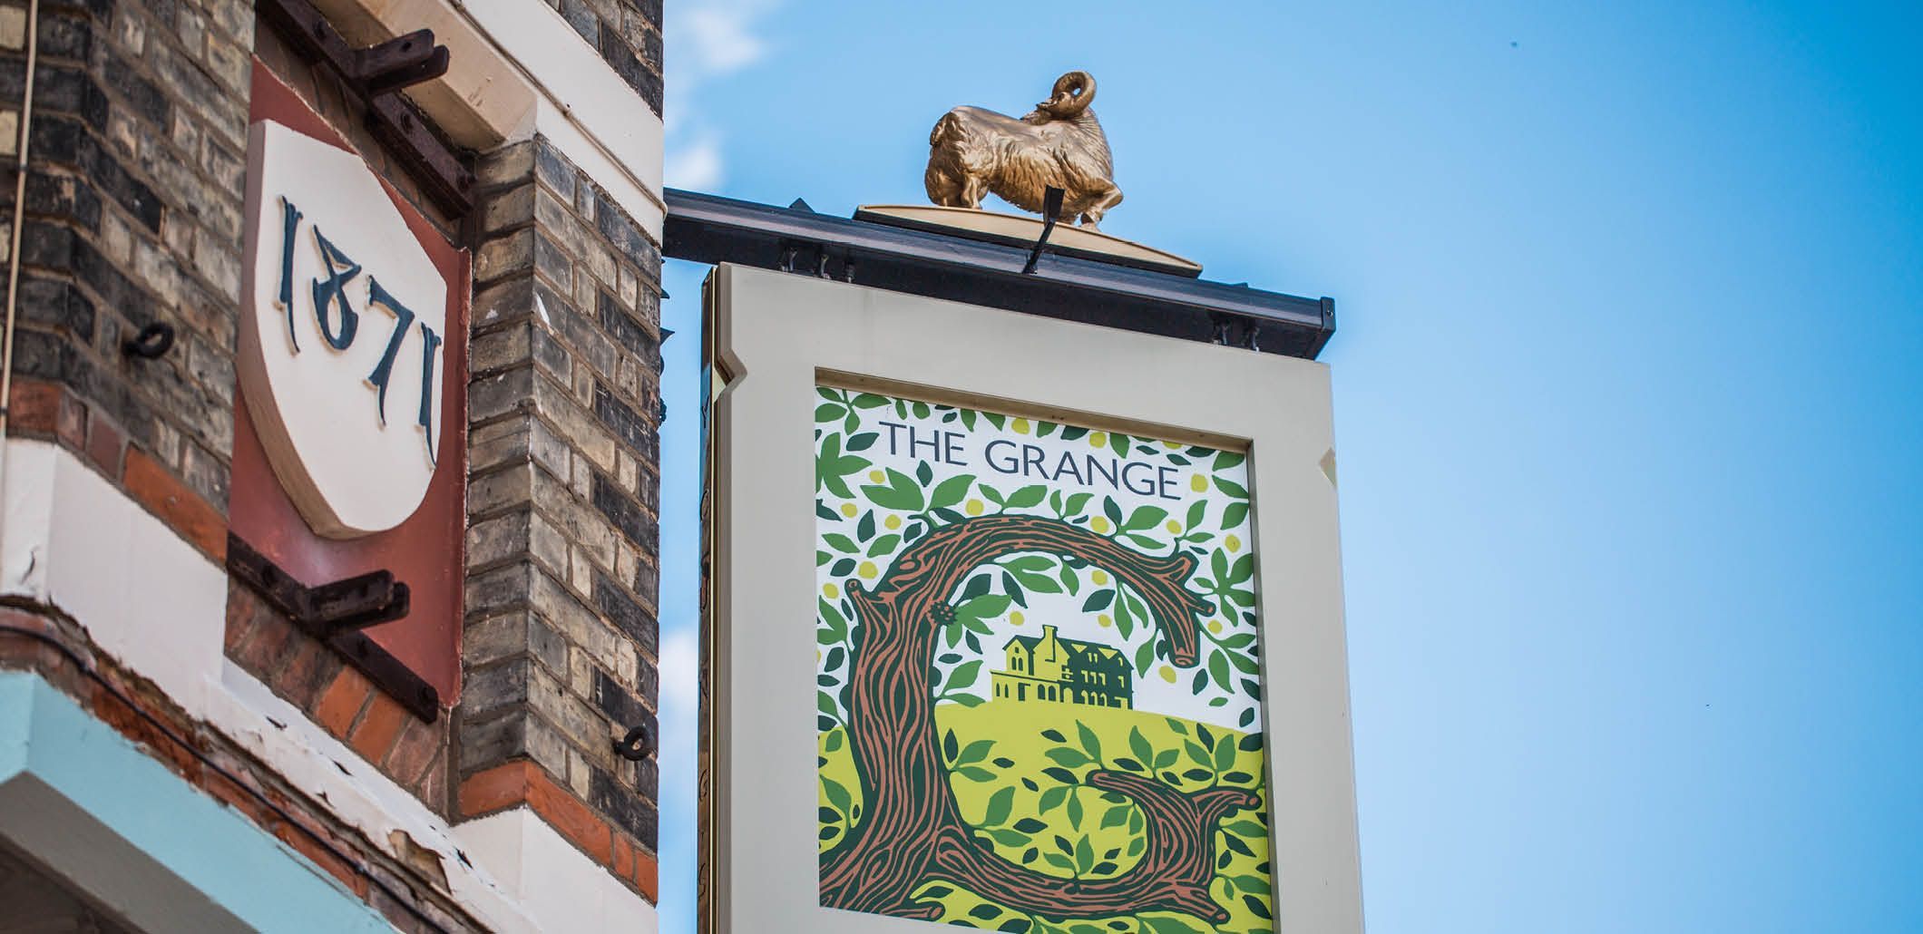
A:
{"label": "illustrated THE GRANGE picture panel inside the cream frame", "polygon": [[837,386],[815,406],[821,903],[1273,930],[1242,455]]}

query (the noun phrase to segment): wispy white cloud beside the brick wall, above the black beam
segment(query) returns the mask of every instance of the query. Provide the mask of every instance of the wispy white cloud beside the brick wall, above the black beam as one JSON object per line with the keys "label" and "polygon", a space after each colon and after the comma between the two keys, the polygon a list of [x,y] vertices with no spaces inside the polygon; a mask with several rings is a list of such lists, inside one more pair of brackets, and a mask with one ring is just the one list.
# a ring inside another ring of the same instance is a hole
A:
{"label": "wispy white cloud beside the brick wall, above the black beam", "polygon": [[702,117],[700,90],[763,58],[771,42],[760,35],[775,0],[669,2],[663,44],[667,50],[667,184],[713,190],[727,179],[721,135]]}

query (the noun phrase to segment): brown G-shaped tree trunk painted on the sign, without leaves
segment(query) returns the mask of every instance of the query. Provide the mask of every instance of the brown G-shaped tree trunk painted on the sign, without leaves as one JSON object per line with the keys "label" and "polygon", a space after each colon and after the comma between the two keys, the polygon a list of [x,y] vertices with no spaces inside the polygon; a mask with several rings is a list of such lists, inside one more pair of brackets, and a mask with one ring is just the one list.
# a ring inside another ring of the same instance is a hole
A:
{"label": "brown G-shaped tree trunk painted on the sign, without leaves", "polygon": [[821,903],[935,919],[940,905],[910,897],[948,880],[1010,909],[1050,919],[1185,911],[1221,922],[1210,899],[1215,824],[1256,807],[1238,788],[1181,792],[1154,778],[1096,769],[1085,782],[1129,796],[1146,819],[1140,861],[1113,878],[1069,882],[1010,863],[969,836],[935,728],[931,665],[956,590],[985,563],[1019,552],[1079,557],[1142,596],[1169,659],[1196,663],[1196,621],[1211,605],[1185,588],[1194,557],[1144,555],[1075,525],[1033,515],[986,515],[937,528],[910,546],[873,588],[850,586],[858,651],[848,680],[848,738],[865,815],[821,855]]}

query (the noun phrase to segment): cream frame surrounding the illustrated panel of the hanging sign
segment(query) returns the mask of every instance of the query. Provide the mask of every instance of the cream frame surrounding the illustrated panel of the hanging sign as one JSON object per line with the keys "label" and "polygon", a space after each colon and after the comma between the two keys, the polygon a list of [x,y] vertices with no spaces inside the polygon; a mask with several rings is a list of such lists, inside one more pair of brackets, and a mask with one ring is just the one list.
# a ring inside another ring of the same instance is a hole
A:
{"label": "cream frame surrounding the illustrated panel of the hanging sign", "polygon": [[1273,928],[1361,930],[1325,365],[733,265],[708,321],[704,930],[942,930],[821,903],[817,386],[1246,455]]}

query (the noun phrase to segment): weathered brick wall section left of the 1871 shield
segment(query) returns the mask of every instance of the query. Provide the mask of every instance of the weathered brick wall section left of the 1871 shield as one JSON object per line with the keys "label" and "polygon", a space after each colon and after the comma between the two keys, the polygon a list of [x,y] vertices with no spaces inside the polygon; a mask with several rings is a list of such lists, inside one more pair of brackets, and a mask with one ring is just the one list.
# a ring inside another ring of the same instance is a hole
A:
{"label": "weathered brick wall section left of the 1871 shield", "polygon": [[[25,10],[0,13],[6,129],[25,90]],[[42,4],[21,231],[10,432],[58,440],[215,557],[252,44],[244,0]],[[10,221],[13,136],[0,146]],[[152,321],[177,329],[175,348],[123,356]]]}

